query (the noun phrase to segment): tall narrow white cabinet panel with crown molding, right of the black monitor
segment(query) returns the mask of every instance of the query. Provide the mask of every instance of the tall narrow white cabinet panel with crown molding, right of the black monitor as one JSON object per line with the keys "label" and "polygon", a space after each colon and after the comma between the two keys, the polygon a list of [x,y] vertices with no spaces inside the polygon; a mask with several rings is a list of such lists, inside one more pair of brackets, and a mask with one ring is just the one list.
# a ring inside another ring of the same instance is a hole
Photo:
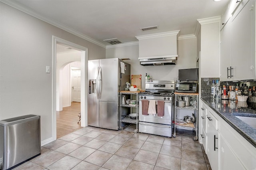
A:
{"label": "tall narrow white cabinet panel with crown molding, right of the black monitor", "polygon": [[220,17],[198,20],[201,24],[200,76],[219,77]]}

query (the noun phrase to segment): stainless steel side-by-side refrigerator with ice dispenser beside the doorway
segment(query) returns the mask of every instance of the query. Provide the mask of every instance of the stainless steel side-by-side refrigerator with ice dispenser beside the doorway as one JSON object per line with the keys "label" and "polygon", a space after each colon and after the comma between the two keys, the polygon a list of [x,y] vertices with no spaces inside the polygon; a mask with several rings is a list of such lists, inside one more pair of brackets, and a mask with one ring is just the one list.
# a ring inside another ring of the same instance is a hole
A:
{"label": "stainless steel side-by-side refrigerator with ice dispenser beside the doorway", "polygon": [[89,126],[118,130],[119,91],[130,82],[130,64],[123,63],[118,58],[88,60]]}

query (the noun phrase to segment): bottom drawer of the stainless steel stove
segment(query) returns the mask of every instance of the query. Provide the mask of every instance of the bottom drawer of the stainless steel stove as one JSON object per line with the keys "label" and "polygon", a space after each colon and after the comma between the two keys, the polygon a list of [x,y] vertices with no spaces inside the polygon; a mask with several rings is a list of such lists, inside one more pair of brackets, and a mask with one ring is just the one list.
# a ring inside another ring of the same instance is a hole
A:
{"label": "bottom drawer of the stainless steel stove", "polygon": [[172,137],[172,125],[139,122],[139,132]]}

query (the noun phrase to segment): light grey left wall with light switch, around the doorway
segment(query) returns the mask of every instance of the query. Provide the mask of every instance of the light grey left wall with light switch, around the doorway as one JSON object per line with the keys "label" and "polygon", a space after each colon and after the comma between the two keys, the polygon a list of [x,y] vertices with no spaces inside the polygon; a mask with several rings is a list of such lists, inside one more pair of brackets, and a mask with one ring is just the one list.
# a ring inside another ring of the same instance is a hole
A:
{"label": "light grey left wall with light switch, around the doorway", "polygon": [[88,59],[105,58],[105,48],[0,2],[0,120],[40,115],[41,141],[53,138],[52,36],[87,47]]}

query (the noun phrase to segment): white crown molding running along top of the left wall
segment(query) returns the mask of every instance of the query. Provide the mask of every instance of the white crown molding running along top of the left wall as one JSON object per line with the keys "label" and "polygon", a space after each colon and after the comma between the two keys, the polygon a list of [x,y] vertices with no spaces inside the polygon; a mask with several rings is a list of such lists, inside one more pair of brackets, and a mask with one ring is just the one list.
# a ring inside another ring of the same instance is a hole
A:
{"label": "white crown molding running along top of the left wall", "polygon": [[51,25],[53,25],[53,26],[56,26],[56,27],[58,27],[58,28],[60,28],[60,29],[62,29],[62,30],[64,30],[64,31],[66,31],[66,32],[69,32],[69,33],[74,34],[74,35],[76,35],[76,36],[78,36],[78,37],[80,37],[80,38],[83,38],[84,40],[87,40],[88,42],[91,42],[91,43],[94,43],[94,44],[96,44],[96,45],[99,45],[100,47],[106,48],[106,45],[105,45],[104,43],[98,42],[98,41],[94,40],[93,38],[90,38],[90,37],[88,37],[88,36],[86,36],[86,35],[84,35],[84,34],[78,32],[78,31],[76,31],[76,30],[74,30],[74,29],[72,29],[72,28],[69,28],[68,26],[65,26],[65,25],[63,25],[63,24],[60,24],[59,22],[56,22],[56,21],[54,21],[54,20],[50,20],[50,19],[48,19],[48,18],[44,18],[43,16],[40,16],[40,15],[38,15],[38,14],[32,12],[31,10],[25,8],[24,6],[21,6],[21,5],[19,5],[19,4],[16,4],[16,3],[13,2],[13,1],[0,0],[0,2],[3,2],[3,3],[6,4],[6,5],[9,5],[9,6],[11,6],[11,7],[13,7],[13,8],[16,8],[17,10],[20,10],[20,11],[22,11],[22,12],[28,14],[28,15],[31,15],[31,16],[33,16],[33,17],[35,17],[35,18],[38,18],[39,20],[42,20],[42,21],[44,21],[44,22],[47,22],[48,24],[51,24]]}

